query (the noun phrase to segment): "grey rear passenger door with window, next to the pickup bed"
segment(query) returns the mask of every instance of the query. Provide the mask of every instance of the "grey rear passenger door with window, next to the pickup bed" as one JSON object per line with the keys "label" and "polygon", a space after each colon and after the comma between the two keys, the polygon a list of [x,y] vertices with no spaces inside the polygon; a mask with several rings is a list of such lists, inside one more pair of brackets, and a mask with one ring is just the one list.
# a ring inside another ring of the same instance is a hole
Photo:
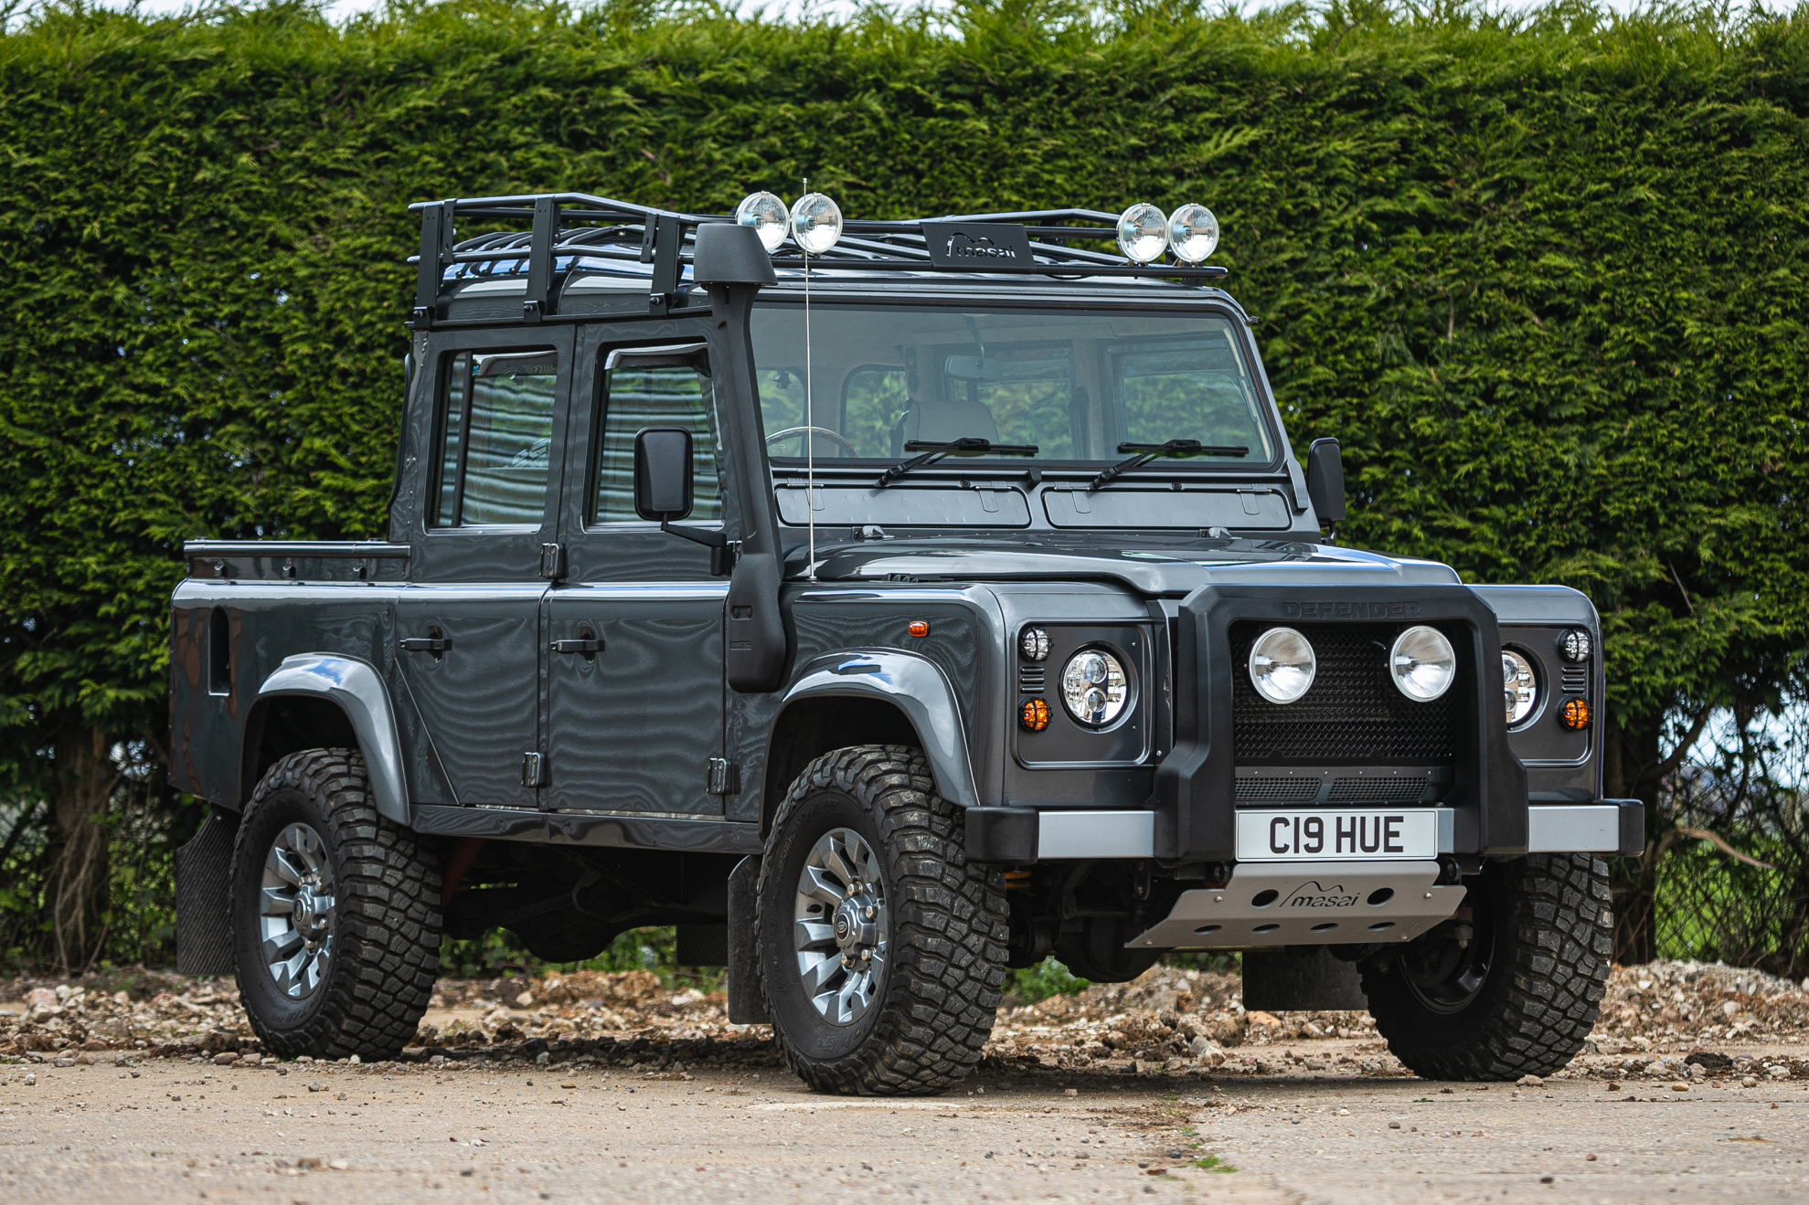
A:
{"label": "grey rear passenger door with window, next to the pickup bed", "polygon": [[409,758],[418,803],[541,802],[543,545],[555,532],[572,335],[505,338],[516,333],[436,335],[414,584],[396,604],[398,704],[425,736]]}

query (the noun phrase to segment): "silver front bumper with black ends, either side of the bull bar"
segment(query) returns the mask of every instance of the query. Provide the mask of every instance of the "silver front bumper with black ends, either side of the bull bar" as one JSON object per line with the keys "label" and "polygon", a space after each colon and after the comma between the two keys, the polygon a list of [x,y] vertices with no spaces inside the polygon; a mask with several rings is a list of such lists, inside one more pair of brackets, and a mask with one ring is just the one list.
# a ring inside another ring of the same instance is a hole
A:
{"label": "silver front bumper with black ends, either side of the bull bar", "polygon": [[[1449,807],[1442,807],[1438,812],[1438,852],[1449,854],[1454,852],[1456,812]],[[1156,812],[1152,811],[970,807],[966,821],[968,858],[973,861],[1024,865],[1156,856]],[[1644,852],[1644,849],[1646,812],[1639,800],[1532,803],[1527,807],[1527,852],[1530,854],[1632,856]]]}

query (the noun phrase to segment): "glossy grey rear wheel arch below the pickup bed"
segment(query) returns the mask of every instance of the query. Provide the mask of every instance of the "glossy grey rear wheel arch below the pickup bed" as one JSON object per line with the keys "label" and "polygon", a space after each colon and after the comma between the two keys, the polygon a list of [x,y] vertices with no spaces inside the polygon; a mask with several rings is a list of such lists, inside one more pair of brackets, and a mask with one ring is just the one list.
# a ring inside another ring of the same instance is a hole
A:
{"label": "glossy grey rear wheel arch below the pickup bed", "polygon": [[396,713],[382,675],[358,657],[298,653],[257,688],[239,751],[239,798],[300,749],[353,747],[364,754],[378,814],[409,823]]}

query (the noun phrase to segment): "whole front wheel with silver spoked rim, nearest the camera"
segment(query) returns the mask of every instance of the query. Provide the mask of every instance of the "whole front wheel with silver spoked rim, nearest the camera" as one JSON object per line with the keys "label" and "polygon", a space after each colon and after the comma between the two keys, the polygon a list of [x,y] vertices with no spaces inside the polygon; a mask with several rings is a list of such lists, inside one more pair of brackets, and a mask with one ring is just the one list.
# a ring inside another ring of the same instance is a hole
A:
{"label": "whole front wheel with silver spoked rim, nearest the camera", "polygon": [[814,1091],[926,1095],[993,1031],[1004,876],[966,859],[962,814],[919,749],[812,762],[760,861],[754,934],[772,1035]]}

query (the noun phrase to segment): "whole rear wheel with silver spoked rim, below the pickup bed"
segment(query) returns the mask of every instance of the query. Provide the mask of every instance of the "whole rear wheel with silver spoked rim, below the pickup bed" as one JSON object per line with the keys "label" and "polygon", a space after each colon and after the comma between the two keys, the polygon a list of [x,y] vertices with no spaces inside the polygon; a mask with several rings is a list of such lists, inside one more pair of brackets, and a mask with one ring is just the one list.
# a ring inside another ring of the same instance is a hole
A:
{"label": "whole rear wheel with silver spoked rim, below the pickup bed", "polygon": [[232,861],[239,995],[275,1055],[394,1058],[440,968],[440,870],[376,812],[353,749],[264,774]]}

